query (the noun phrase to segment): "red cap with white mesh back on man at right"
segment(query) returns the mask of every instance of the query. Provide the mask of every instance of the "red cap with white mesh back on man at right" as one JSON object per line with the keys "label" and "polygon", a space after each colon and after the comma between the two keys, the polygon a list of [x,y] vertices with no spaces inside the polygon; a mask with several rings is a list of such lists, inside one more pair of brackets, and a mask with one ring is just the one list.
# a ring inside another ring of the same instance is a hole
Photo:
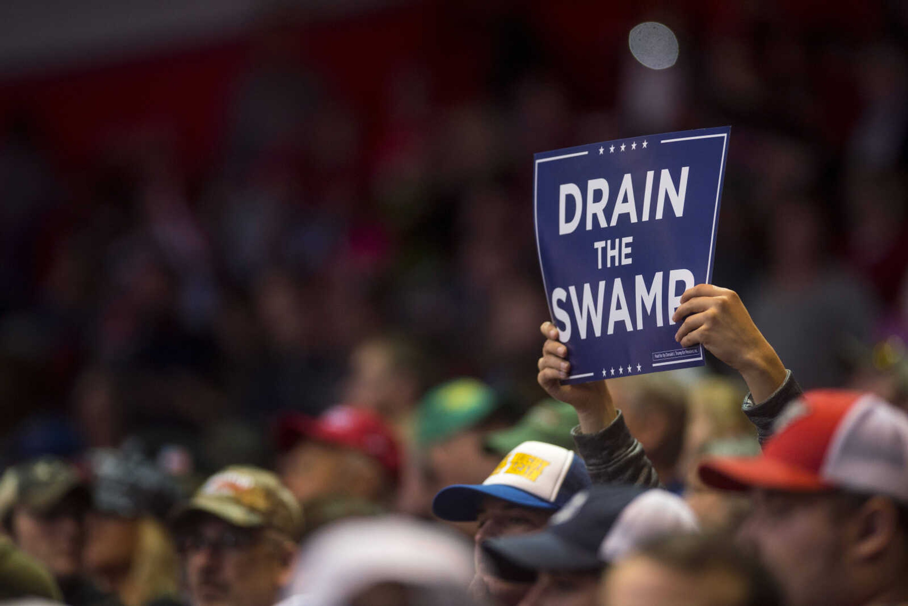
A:
{"label": "red cap with white mesh back on man at right", "polygon": [[792,401],[756,457],[715,457],[700,479],[724,490],[844,488],[908,502],[908,414],[871,393],[815,390]]}

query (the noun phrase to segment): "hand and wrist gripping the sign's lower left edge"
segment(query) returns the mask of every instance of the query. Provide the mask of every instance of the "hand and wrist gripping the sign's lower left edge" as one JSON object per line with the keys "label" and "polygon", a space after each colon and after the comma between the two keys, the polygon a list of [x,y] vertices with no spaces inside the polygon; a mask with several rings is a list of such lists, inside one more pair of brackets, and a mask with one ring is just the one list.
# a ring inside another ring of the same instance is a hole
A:
{"label": "hand and wrist gripping the sign's lower left edge", "polygon": [[570,375],[568,346],[558,341],[558,327],[546,322],[539,327],[546,337],[539,358],[537,381],[548,395],[567,402],[577,411],[580,431],[594,433],[607,427],[617,412],[605,381],[592,381],[565,385],[561,381]]}

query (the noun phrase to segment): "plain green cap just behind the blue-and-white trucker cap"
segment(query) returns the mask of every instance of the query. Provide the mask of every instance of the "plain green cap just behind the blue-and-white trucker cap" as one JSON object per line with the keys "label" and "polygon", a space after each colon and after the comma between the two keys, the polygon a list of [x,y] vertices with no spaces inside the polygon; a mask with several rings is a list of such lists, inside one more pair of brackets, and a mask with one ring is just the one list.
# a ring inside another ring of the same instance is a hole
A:
{"label": "plain green cap just behind the blue-and-white trucker cap", "polygon": [[513,427],[489,432],[486,446],[502,456],[523,442],[548,442],[573,450],[574,438],[570,432],[576,425],[577,412],[573,406],[558,400],[543,400]]}

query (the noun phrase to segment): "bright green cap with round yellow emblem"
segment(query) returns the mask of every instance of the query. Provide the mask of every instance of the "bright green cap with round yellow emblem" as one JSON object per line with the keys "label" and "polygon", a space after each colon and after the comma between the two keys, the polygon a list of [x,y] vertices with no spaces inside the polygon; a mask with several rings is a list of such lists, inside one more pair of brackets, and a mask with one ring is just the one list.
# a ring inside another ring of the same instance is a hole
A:
{"label": "bright green cap with round yellow emblem", "polygon": [[478,379],[455,379],[432,388],[422,398],[416,439],[420,446],[443,442],[495,412],[496,392]]}

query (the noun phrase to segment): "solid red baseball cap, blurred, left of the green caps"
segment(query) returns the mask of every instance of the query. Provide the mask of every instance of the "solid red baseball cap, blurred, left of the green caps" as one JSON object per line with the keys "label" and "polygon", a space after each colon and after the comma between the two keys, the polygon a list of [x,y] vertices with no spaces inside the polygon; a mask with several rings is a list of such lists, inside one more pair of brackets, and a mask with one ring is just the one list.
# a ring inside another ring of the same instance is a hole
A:
{"label": "solid red baseball cap, blurred, left of the green caps", "polygon": [[341,404],[319,417],[291,412],[278,421],[276,437],[281,452],[301,440],[314,440],[363,452],[395,476],[400,468],[400,449],[393,430],[366,408]]}

